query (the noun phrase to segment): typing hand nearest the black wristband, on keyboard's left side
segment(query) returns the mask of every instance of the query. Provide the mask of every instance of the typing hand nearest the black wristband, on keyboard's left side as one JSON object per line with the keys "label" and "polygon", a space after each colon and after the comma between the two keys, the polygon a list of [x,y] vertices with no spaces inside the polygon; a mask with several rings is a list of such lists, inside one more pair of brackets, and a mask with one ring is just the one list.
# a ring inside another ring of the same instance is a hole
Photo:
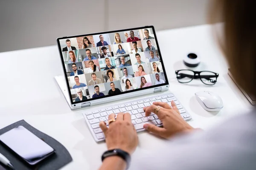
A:
{"label": "typing hand nearest the black wristband, on keyboard's left side", "polygon": [[[108,119],[115,119],[115,114],[110,114]],[[111,122],[109,128],[105,122],[100,122],[99,126],[105,134],[108,150],[121,149],[130,155],[134,152],[138,145],[138,137],[129,113],[118,113],[116,122]]]}

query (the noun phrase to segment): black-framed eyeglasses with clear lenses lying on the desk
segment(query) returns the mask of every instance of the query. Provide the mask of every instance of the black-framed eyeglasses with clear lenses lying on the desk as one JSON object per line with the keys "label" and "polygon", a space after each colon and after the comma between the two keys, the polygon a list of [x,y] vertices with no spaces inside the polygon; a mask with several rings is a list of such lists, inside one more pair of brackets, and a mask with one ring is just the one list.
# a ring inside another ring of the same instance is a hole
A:
{"label": "black-framed eyeglasses with clear lenses lying on the desk", "polygon": [[176,70],[178,82],[187,83],[192,79],[200,79],[206,85],[214,85],[217,82],[218,73],[212,71]]}

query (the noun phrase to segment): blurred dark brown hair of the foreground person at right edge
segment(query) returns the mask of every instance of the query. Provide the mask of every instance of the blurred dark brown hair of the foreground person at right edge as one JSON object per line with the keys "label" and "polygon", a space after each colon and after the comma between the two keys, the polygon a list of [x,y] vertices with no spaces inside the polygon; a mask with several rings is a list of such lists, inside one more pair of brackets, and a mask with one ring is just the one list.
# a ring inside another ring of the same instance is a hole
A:
{"label": "blurred dark brown hair of the foreground person at right edge", "polygon": [[[214,0],[211,4],[212,23],[224,21],[221,44],[236,83],[248,94],[256,96],[256,24],[254,1]],[[218,36],[220,38],[220,36]]]}

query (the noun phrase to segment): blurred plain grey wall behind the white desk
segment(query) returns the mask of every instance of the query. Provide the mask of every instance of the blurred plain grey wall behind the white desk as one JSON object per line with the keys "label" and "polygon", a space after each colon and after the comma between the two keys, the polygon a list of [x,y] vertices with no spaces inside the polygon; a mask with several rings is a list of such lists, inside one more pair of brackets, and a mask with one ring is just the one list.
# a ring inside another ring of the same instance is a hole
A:
{"label": "blurred plain grey wall behind the white desk", "polygon": [[207,24],[210,0],[0,0],[0,52],[55,45],[58,37],[153,25]]}

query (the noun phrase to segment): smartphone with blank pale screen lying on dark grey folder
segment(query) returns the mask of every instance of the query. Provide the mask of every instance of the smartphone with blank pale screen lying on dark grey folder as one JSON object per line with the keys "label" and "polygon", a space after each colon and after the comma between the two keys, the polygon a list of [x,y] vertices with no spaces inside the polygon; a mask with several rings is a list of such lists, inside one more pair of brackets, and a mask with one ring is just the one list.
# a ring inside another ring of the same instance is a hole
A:
{"label": "smartphone with blank pale screen lying on dark grey folder", "polygon": [[23,126],[15,127],[0,135],[0,142],[30,165],[35,165],[55,153],[49,144]]}

